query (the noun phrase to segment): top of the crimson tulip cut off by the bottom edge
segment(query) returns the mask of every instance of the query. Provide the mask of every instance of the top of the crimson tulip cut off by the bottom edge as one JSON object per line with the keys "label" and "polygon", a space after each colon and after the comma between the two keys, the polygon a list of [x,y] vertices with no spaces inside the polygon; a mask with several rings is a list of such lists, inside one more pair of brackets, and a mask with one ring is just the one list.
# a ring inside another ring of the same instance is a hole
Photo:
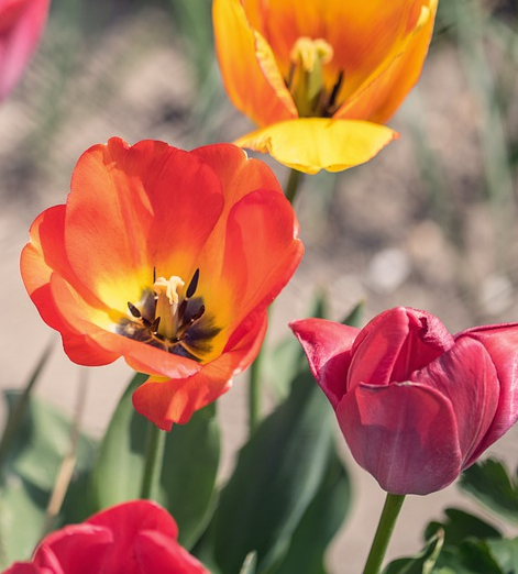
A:
{"label": "top of the crimson tulip cut off by the bottom edge", "polygon": [[30,562],[15,562],[3,574],[208,574],[177,537],[166,510],[133,500],[48,534]]}

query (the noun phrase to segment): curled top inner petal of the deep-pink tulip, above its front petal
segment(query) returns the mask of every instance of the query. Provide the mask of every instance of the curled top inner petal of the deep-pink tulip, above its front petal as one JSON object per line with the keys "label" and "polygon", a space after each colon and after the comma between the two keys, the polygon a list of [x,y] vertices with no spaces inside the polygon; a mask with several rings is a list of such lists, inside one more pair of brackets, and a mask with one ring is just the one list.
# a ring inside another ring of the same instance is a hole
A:
{"label": "curled top inner petal of the deep-pink tulip, above its front petal", "polygon": [[453,346],[453,338],[433,314],[396,307],[376,316],[354,341],[348,389],[361,383],[408,380]]}

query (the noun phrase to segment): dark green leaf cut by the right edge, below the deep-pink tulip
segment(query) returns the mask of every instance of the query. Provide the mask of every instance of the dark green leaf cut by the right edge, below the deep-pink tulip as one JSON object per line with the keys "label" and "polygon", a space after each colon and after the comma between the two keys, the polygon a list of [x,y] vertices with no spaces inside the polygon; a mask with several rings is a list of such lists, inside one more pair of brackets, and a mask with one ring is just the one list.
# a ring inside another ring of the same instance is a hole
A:
{"label": "dark green leaf cut by the right edge, below the deep-pink tulip", "polygon": [[518,479],[494,459],[486,459],[464,471],[459,486],[481,505],[518,523]]}

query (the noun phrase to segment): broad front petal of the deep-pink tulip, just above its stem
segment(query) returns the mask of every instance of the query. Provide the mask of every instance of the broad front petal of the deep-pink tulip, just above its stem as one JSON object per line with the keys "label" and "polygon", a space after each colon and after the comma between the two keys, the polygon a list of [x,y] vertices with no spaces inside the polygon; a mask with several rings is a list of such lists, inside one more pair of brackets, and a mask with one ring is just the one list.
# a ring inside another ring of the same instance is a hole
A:
{"label": "broad front petal of the deep-pink tulip, just above its stem", "polygon": [[355,461],[388,493],[430,494],[461,472],[455,412],[434,388],[360,385],[339,404],[337,418]]}

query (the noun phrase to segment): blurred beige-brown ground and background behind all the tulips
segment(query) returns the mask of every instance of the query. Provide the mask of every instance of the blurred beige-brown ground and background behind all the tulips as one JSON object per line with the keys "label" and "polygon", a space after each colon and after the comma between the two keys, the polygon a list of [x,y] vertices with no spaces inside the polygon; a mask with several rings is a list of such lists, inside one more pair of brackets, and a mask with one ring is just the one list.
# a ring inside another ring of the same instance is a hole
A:
{"label": "blurred beige-brown ground and background behind all the tulips", "polygon": [[[112,135],[189,150],[253,128],[221,85],[210,11],[209,0],[53,0],[40,48],[0,106],[2,389],[23,386],[54,340],[36,393],[68,412],[76,401],[79,368],[30,302],[19,255],[33,219],[65,201],[79,155]],[[365,321],[397,305],[452,332],[518,321],[517,69],[516,0],[439,2],[422,77],[389,122],[400,140],[364,166],[304,180],[295,207],[307,251],[275,305],[269,342],[288,336],[287,321],[318,289],[332,319],[365,298]],[[88,372],[82,423],[93,435],[130,376],[122,363]],[[222,477],[245,438],[244,390],[238,379],[220,405]],[[518,430],[491,453],[515,467]],[[343,455],[355,498],[329,554],[335,573],[360,570],[384,498],[345,446]],[[389,555],[416,552],[422,526],[451,504],[469,505],[454,485],[409,497]]]}

